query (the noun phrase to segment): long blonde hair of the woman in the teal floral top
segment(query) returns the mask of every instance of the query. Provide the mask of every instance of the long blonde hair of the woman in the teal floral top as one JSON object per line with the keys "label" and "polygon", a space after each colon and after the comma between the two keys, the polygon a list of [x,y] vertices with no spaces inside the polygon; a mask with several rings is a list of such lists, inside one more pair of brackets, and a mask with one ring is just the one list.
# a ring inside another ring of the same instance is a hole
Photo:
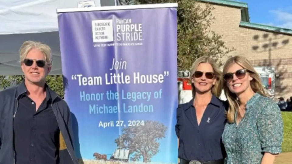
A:
{"label": "long blonde hair of the woman in the teal floral top", "polygon": [[[245,68],[247,72],[249,72],[249,75],[252,77],[252,80],[250,81],[250,86],[252,88],[252,91],[266,97],[265,89],[262,86],[262,82],[261,82],[261,78],[259,77],[259,74],[255,71],[251,63],[249,63],[249,61],[245,57],[234,56],[234,57],[229,58],[224,64],[223,74],[227,73],[227,69],[232,63],[236,63],[240,65],[241,67]],[[229,103],[229,109],[227,111],[227,121],[229,123],[234,123],[235,122],[234,114],[235,114],[235,111],[238,111],[239,101],[237,99],[236,94],[232,93],[228,89],[226,81],[224,81],[223,89]]]}

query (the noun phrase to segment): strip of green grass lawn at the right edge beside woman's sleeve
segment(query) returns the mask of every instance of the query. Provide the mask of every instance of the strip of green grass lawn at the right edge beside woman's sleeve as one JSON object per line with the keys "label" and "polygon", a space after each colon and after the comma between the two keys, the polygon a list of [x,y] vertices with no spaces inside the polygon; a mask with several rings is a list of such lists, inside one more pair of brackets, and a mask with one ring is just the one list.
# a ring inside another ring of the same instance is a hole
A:
{"label": "strip of green grass lawn at the right edge beside woman's sleeve", "polygon": [[292,112],[282,111],[284,124],[283,152],[292,152]]}

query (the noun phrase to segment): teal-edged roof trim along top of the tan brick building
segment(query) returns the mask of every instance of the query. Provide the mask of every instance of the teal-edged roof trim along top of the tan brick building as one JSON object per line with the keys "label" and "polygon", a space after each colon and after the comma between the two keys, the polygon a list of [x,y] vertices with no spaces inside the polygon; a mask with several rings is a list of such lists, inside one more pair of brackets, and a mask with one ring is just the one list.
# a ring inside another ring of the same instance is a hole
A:
{"label": "teal-edged roof trim along top of the tan brick building", "polygon": [[262,25],[258,23],[251,23],[249,19],[248,4],[245,2],[238,2],[238,1],[231,1],[231,0],[199,0],[199,1],[208,2],[212,4],[217,4],[217,5],[231,6],[231,7],[241,9],[241,22],[239,26],[292,35],[291,29],[285,29],[285,28],[275,27],[275,26],[267,26],[267,25]]}

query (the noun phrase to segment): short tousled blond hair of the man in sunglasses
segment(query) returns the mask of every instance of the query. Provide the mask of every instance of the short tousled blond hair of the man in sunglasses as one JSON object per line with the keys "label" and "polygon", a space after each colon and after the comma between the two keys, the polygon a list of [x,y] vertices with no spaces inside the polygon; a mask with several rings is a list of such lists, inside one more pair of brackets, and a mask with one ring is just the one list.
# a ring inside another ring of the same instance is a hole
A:
{"label": "short tousled blond hair of the man in sunglasses", "polygon": [[27,54],[33,48],[40,50],[44,54],[45,61],[46,61],[48,66],[51,66],[53,64],[50,47],[46,44],[43,44],[40,42],[35,42],[35,41],[30,41],[30,40],[25,41],[21,45],[21,47],[19,49],[19,62],[23,62],[23,60],[26,58]]}

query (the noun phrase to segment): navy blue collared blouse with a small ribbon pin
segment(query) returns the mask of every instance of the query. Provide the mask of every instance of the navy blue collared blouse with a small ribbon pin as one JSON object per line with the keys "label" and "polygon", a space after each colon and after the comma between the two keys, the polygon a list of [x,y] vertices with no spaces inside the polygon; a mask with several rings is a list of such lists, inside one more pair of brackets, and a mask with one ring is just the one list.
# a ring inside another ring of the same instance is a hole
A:
{"label": "navy blue collared blouse with a small ribbon pin", "polygon": [[228,105],[213,95],[198,125],[193,101],[194,99],[186,104],[179,104],[177,108],[178,157],[188,161],[225,158],[221,136],[226,123],[225,108]]}

